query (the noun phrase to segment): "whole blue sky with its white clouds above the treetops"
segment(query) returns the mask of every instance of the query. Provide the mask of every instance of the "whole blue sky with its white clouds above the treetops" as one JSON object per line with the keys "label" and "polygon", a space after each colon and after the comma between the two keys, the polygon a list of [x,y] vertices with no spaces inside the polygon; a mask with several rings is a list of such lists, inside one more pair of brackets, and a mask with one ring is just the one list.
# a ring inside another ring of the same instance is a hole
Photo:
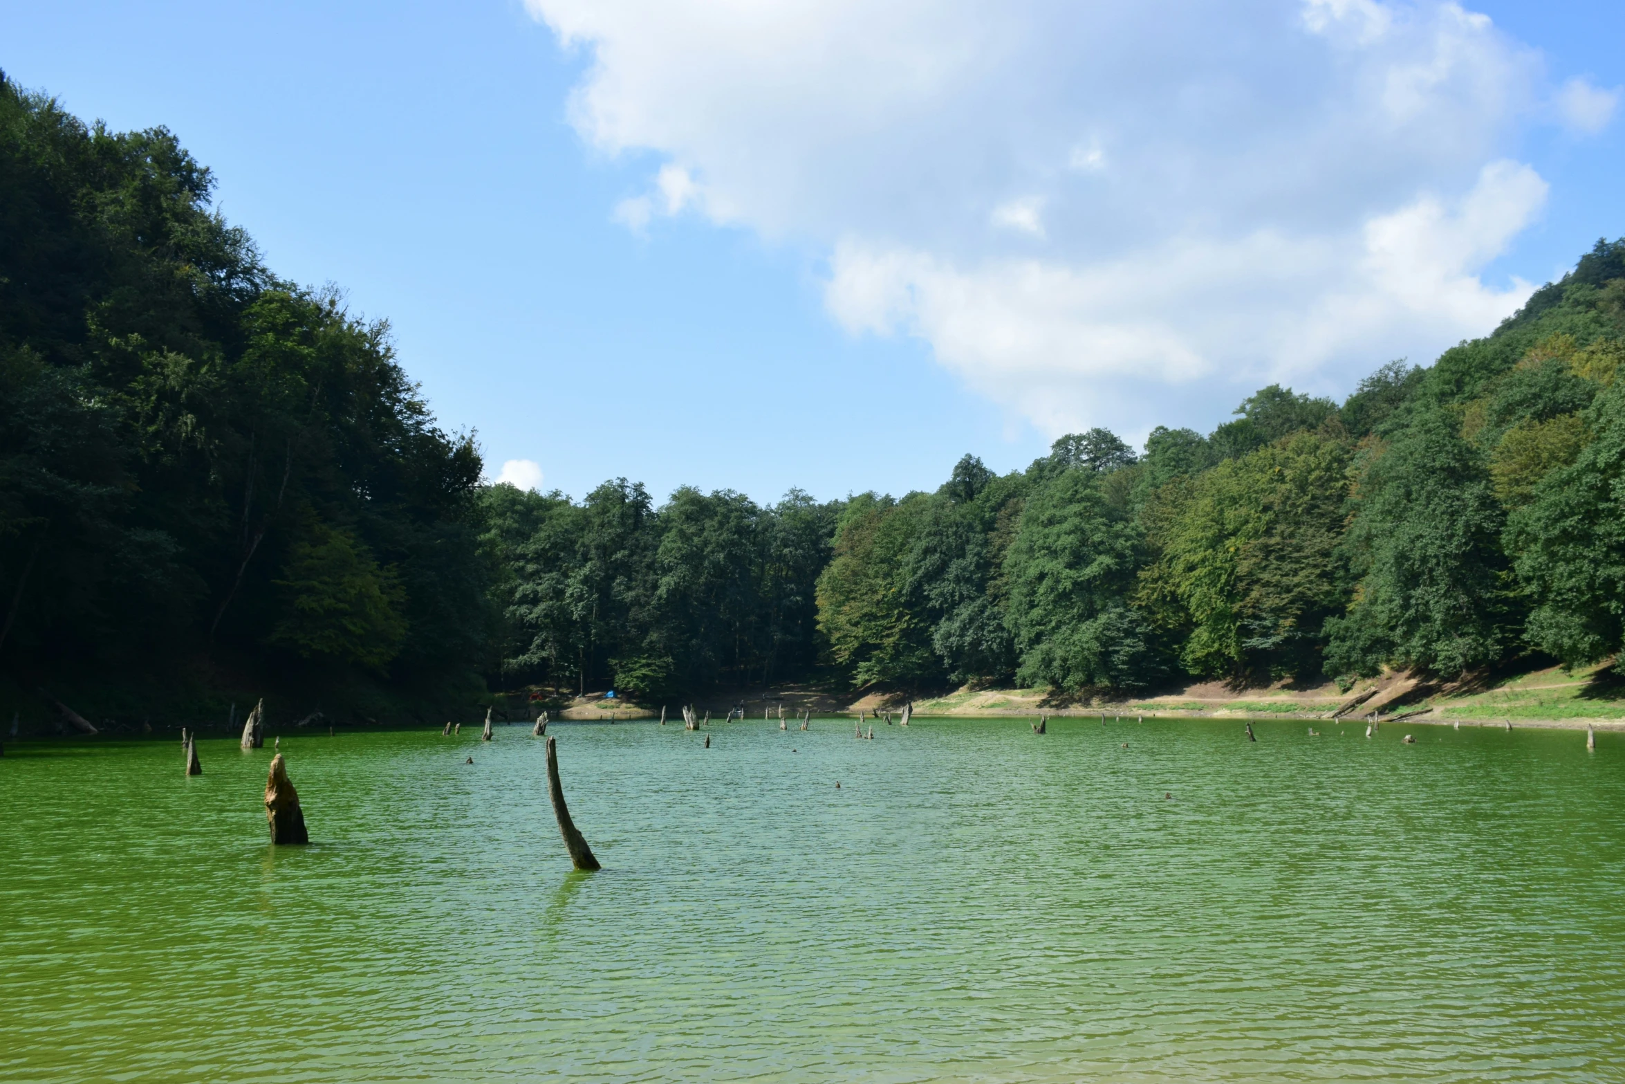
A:
{"label": "whole blue sky with its white clouds above the treetops", "polygon": [[179,133],[492,475],[764,501],[1488,332],[1625,234],[1620,41],[1618,3],[0,3],[0,67]]}

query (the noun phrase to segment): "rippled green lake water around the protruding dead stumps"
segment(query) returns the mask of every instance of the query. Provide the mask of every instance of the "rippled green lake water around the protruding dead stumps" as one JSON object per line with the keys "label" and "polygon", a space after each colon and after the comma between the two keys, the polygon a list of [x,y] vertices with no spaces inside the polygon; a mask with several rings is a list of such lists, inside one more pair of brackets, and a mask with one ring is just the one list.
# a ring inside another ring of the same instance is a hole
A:
{"label": "rippled green lake water around the protruding dead stumps", "polygon": [[1622,735],[852,726],[8,743],[0,1079],[1625,1079]]}

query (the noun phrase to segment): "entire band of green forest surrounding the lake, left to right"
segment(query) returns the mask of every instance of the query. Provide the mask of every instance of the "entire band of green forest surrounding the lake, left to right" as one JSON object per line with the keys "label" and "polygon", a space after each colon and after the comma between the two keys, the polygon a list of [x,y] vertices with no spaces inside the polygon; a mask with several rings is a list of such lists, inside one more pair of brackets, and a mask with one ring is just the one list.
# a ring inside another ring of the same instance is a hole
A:
{"label": "entire band of green forest surrounding the lake, left to right", "polygon": [[481,483],[388,325],[162,130],[0,76],[0,707],[431,717],[489,689],[1349,683],[1589,663],[1625,605],[1625,242],[1432,367],[934,492]]}

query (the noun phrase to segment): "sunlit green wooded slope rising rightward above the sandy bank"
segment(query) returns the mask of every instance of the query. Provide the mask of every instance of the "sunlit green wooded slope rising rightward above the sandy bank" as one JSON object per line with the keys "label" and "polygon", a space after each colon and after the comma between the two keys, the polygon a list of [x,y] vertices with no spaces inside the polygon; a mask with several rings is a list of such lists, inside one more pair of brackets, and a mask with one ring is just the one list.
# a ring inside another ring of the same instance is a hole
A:
{"label": "sunlit green wooded slope rising rightward above the sandy bank", "polygon": [[1126,692],[1610,657],[1625,605],[1625,242],[1341,406],[1268,387],[1202,436],[850,502],[819,580],[858,684]]}

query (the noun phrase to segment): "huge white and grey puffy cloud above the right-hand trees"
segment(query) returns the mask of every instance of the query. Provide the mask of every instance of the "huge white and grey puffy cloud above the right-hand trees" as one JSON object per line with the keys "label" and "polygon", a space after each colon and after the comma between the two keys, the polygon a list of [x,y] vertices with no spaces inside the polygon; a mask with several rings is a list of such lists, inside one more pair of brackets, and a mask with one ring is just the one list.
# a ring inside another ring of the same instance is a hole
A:
{"label": "huge white and grey puffy cloud above the right-hand trees", "polygon": [[577,130],[666,159],[622,221],[811,245],[837,322],[1046,432],[1346,390],[1529,293],[1482,276],[1540,211],[1505,153],[1549,91],[1458,3],[526,2],[590,52]]}

